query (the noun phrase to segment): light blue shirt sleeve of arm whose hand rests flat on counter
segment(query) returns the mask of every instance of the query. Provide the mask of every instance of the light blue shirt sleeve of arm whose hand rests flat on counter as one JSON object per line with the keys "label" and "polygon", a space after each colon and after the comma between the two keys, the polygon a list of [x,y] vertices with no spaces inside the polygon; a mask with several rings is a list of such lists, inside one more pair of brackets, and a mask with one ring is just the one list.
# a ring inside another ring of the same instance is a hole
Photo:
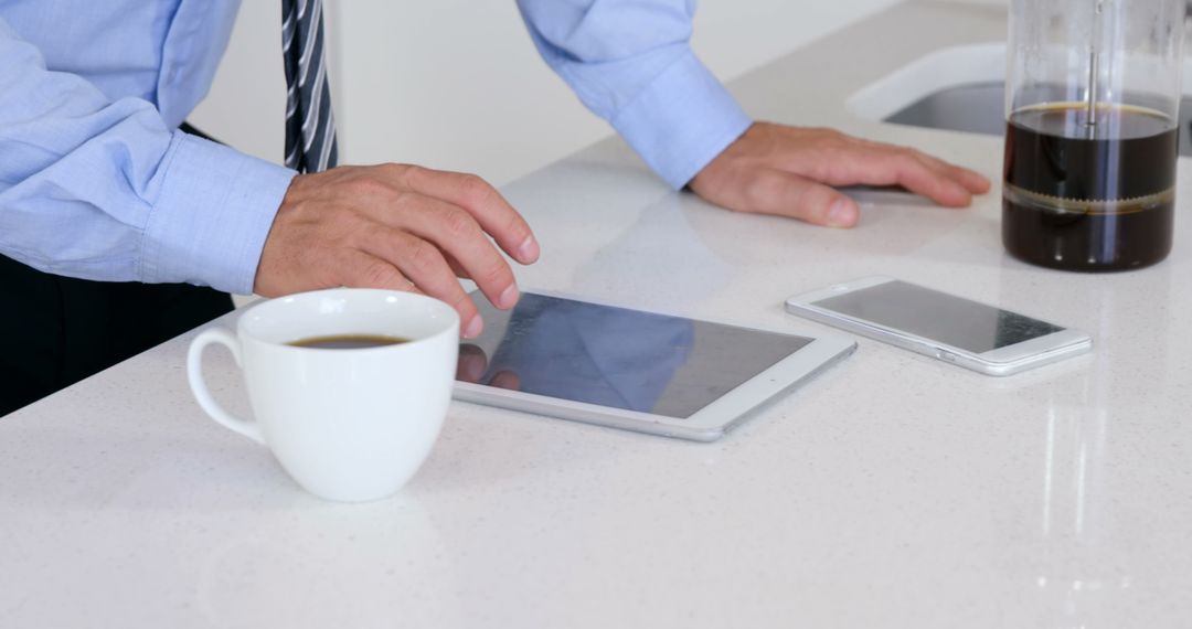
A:
{"label": "light blue shirt sleeve of arm whose hand rests flat on counter", "polygon": [[675,188],[751,119],[691,51],[695,0],[517,0],[547,64]]}

